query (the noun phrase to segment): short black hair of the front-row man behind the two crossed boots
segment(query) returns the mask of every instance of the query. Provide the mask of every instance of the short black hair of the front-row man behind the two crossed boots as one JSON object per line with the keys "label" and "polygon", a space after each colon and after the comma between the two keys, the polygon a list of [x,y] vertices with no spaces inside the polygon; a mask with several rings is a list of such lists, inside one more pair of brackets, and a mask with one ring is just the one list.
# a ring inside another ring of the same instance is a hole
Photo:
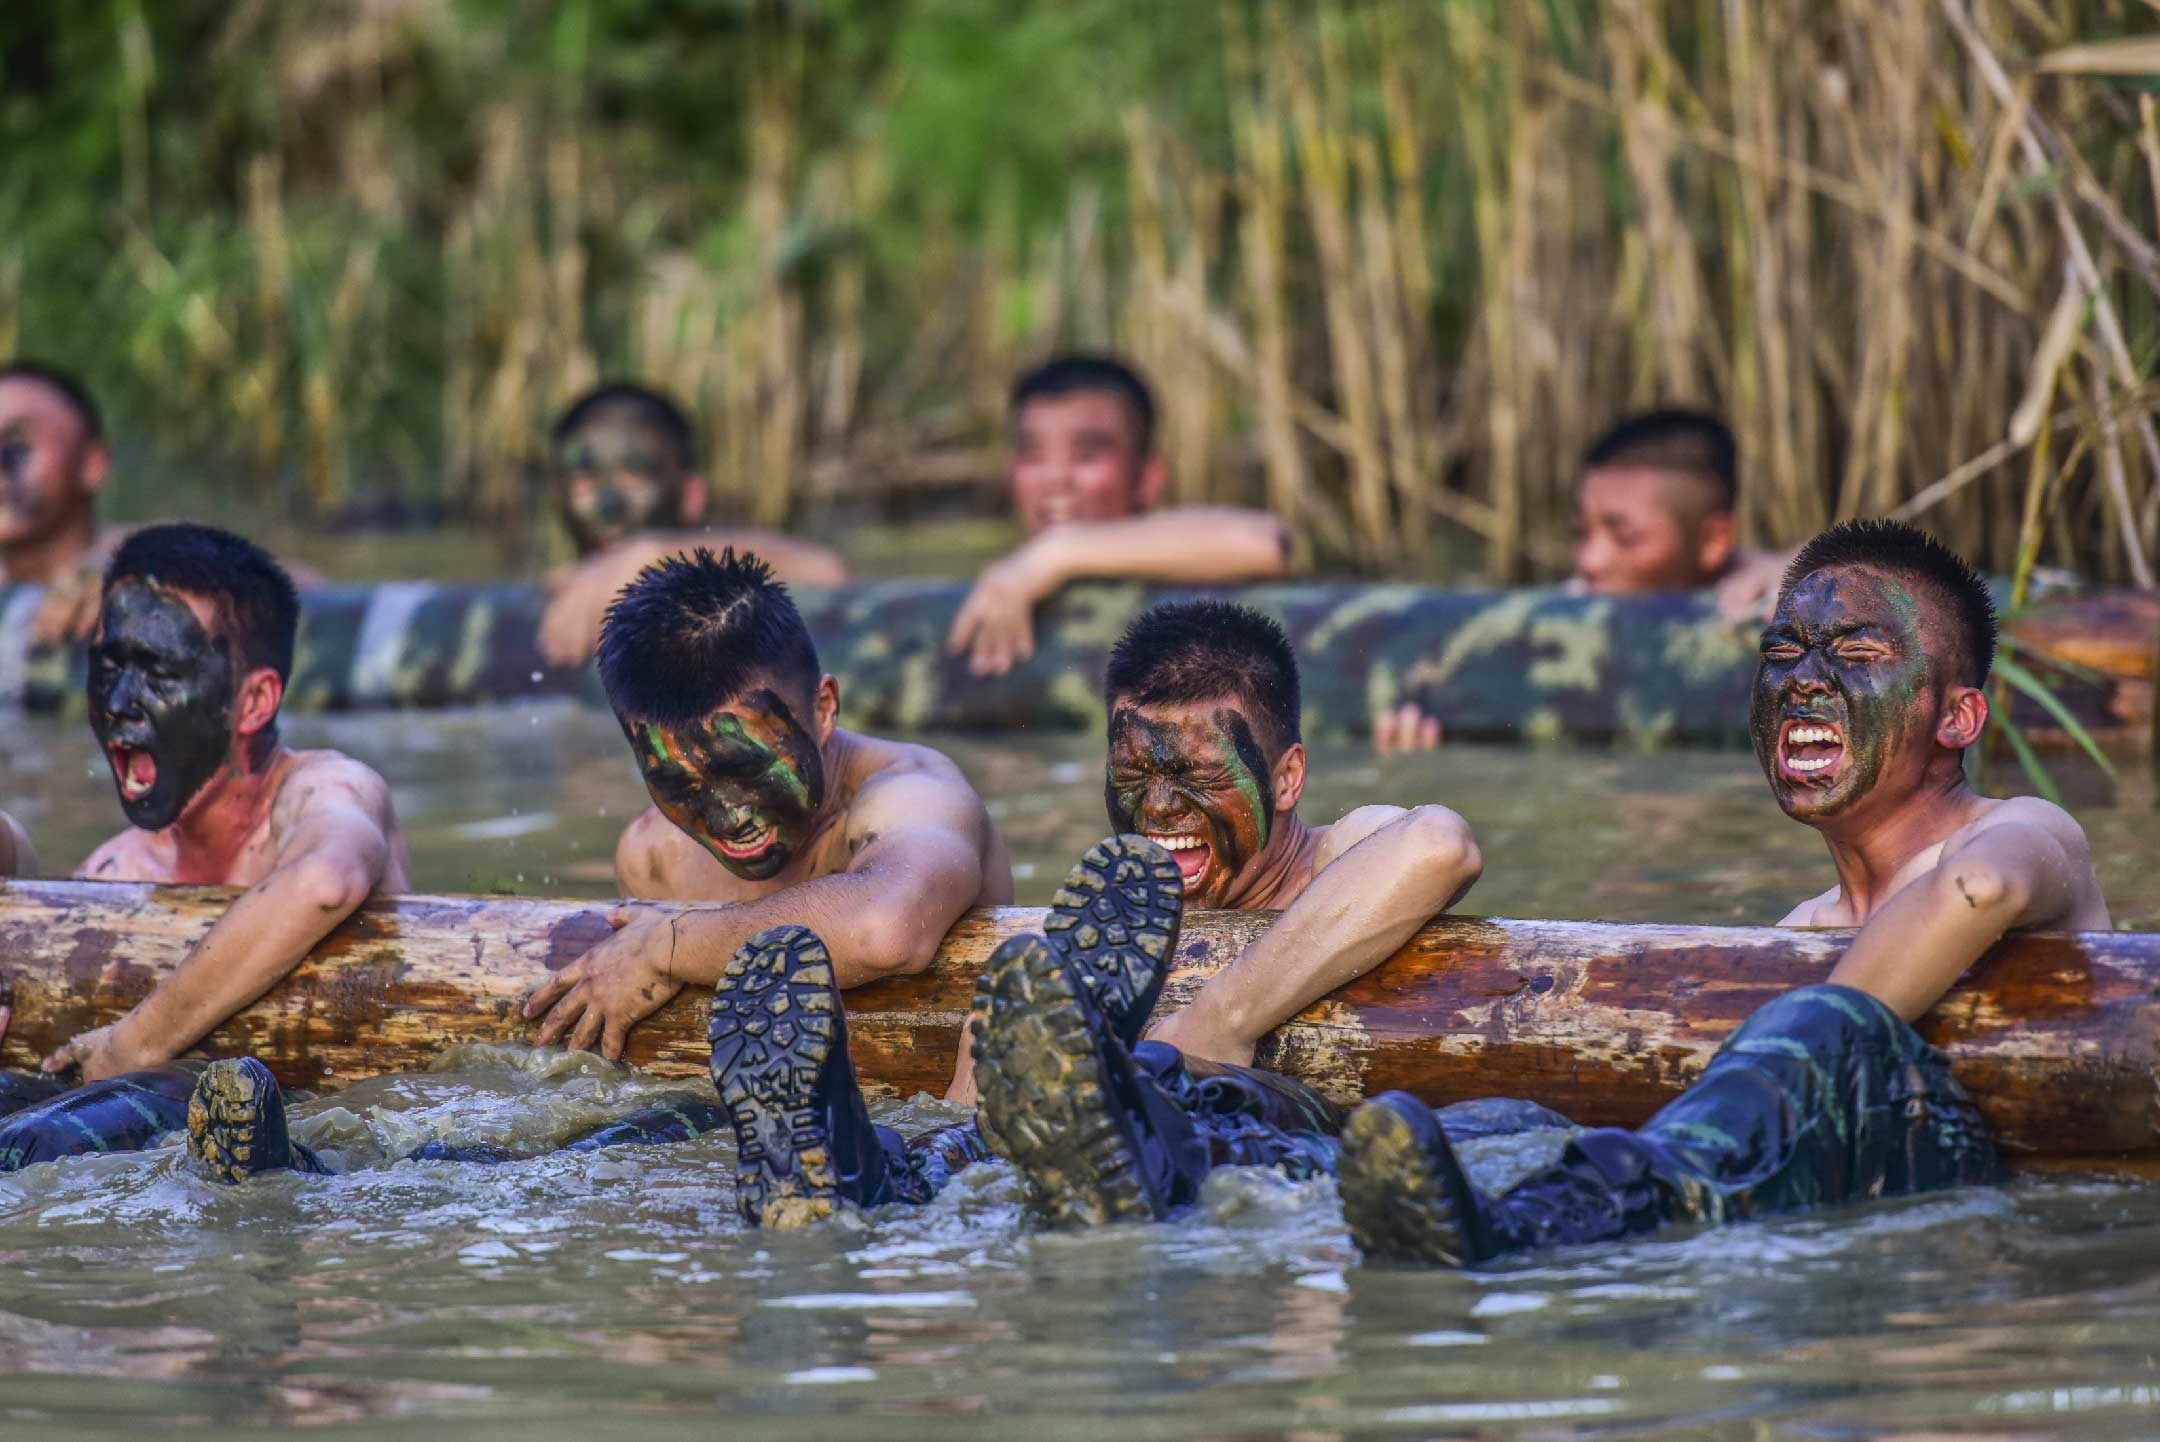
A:
{"label": "short black hair of the front-row man behind the two crossed boots", "polygon": [[1229,600],[1149,607],[1110,650],[1104,702],[1188,706],[1233,695],[1259,721],[1270,756],[1302,740],[1298,656],[1270,615]]}

